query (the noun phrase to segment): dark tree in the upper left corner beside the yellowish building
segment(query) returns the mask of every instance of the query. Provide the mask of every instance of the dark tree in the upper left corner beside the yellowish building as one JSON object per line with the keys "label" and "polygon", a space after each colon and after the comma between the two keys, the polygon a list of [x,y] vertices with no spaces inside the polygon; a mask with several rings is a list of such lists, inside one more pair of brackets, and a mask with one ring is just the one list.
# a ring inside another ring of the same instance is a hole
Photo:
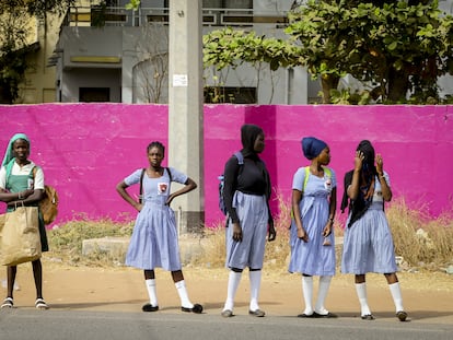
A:
{"label": "dark tree in the upper left corner beside the yellowish building", "polygon": [[30,68],[26,56],[28,20],[65,13],[74,0],[2,0],[0,2],[0,103],[12,104]]}

